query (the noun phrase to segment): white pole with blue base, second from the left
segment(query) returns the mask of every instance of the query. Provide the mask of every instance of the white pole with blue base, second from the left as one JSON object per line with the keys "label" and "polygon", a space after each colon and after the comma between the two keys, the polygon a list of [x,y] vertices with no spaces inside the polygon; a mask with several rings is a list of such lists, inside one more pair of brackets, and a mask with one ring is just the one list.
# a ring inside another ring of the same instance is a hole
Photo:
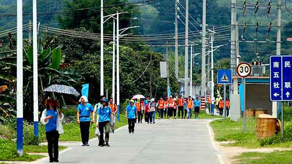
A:
{"label": "white pole with blue base, second from the left", "polygon": [[34,134],[38,137],[38,81],[37,81],[37,0],[33,0],[33,92],[34,92]]}

